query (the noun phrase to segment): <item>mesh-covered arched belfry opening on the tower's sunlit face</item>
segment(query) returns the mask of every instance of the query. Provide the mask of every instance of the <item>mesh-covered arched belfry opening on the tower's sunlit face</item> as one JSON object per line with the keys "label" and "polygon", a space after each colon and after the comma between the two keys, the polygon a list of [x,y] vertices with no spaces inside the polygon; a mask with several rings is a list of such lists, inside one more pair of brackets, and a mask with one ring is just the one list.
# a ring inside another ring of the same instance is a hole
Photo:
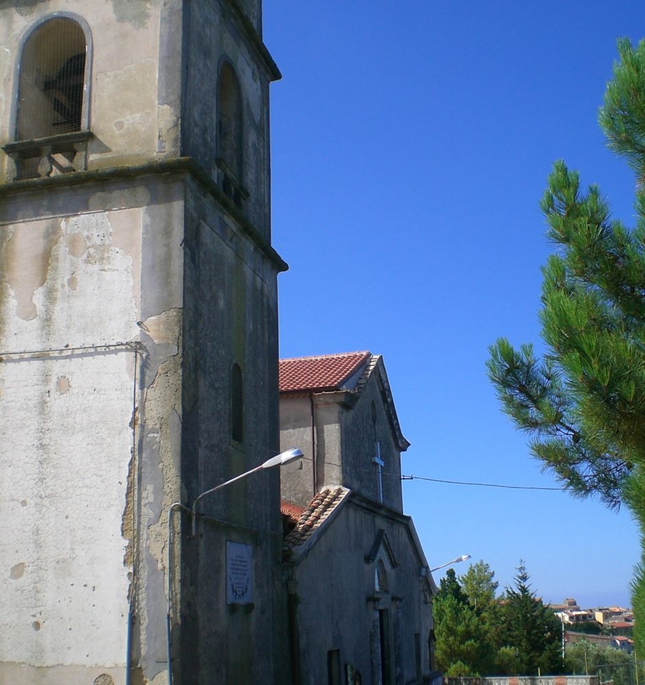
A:
{"label": "mesh-covered arched belfry opening on the tower's sunlit face", "polygon": [[32,140],[80,131],[86,42],[72,19],[53,18],[23,49],[16,138]]}

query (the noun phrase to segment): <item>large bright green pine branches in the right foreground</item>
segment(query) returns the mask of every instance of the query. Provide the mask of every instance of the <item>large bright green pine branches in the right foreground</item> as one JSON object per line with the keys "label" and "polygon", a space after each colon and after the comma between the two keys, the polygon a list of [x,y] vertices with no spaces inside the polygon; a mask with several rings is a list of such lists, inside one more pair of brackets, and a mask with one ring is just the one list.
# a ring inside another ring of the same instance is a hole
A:
{"label": "large bright green pine branches in the right foreground", "polygon": [[[626,503],[645,550],[645,42],[618,41],[600,126],[636,175],[637,223],[611,221],[596,186],[557,162],[541,209],[558,247],[543,269],[540,312],[547,346],[504,338],[489,377],[504,411],[532,436],[531,450],[574,495]],[[645,561],[645,556],[642,557]],[[645,563],[632,602],[637,653],[645,654]]]}

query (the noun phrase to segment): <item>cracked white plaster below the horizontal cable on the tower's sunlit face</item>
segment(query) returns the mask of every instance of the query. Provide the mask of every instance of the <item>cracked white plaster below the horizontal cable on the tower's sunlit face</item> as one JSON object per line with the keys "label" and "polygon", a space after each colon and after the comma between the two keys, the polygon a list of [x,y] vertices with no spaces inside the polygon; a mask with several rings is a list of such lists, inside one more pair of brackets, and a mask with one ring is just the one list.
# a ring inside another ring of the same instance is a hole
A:
{"label": "cracked white plaster below the horizontal cable on the tower's sunlit face", "polygon": [[[132,351],[3,362],[0,661],[123,664]],[[62,382],[62,379],[65,379]],[[69,385],[68,385],[69,384]],[[67,387],[65,392],[53,388]]]}

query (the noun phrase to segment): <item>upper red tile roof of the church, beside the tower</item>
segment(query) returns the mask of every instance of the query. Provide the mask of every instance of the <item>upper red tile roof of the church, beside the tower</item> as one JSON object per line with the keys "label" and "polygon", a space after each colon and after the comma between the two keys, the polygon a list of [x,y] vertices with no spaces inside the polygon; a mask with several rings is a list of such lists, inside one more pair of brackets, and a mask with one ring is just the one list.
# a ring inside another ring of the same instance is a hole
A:
{"label": "upper red tile roof of the church, beside the tower", "polygon": [[318,357],[281,359],[280,393],[340,390],[343,383],[371,358],[369,352],[347,352]]}

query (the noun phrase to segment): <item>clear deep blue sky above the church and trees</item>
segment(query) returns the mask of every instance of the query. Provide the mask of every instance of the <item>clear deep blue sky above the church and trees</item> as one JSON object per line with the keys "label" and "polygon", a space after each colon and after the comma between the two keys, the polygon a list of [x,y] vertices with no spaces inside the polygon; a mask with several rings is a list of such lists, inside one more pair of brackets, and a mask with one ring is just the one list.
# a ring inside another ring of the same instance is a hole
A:
{"label": "clear deep blue sky above the church and trees", "polygon": [[[500,412],[498,336],[539,345],[538,202],[563,158],[633,223],[633,175],[598,106],[642,3],[265,0],[282,357],[380,353],[402,471],[557,486]],[[500,588],[526,562],[545,601],[629,604],[629,514],[560,492],[403,483],[431,566],[470,553]],[[455,567],[465,573],[467,564]],[[439,582],[440,571],[435,574]]]}

